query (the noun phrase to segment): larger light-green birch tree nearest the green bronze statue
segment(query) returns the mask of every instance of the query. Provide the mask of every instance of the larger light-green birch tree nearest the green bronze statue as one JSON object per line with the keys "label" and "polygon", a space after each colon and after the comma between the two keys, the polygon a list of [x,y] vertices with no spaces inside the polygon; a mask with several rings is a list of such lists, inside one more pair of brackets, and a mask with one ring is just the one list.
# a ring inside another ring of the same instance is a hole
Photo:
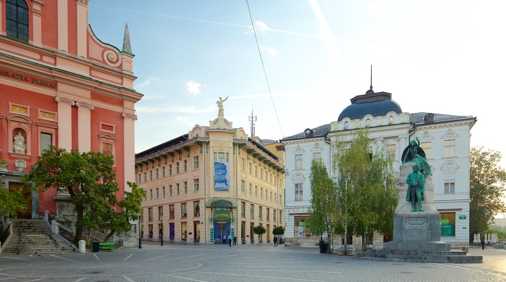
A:
{"label": "larger light-green birch tree nearest the green bronze statue", "polygon": [[385,149],[372,154],[369,150],[368,129],[337,140],[333,151],[336,181],[336,204],[332,211],[335,233],[362,236],[365,248],[367,227],[380,233],[393,233],[397,205],[398,173]]}

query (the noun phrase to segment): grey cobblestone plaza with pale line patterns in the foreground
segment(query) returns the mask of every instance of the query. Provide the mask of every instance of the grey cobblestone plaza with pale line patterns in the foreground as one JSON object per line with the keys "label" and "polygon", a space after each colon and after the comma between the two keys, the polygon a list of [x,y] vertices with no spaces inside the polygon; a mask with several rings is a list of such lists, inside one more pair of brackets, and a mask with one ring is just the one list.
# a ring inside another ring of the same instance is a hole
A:
{"label": "grey cobblestone plaza with pale line patterns in the foreground", "polygon": [[0,281],[506,281],[506,250],[483,264],[412,263],[279,245],[144,242],[116,252],[1,255]]}

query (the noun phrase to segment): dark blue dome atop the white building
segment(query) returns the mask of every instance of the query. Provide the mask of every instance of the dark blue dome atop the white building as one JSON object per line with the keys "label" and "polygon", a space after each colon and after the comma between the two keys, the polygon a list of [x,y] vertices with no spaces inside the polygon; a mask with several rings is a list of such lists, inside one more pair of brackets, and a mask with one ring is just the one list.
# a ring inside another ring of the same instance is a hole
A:
{"label": "dark blue dome atop the white building", "polygon": [[402,113],[399,104],[387,97],[391,97],[390,93],[374,93],[372,90],[368,91],[366,95],[357,96],[351,100],[352,104],[341,112],[338,121],[342,121],[344,118],[361,119],[365,115],[378,117],[385,116],[389,112]]}

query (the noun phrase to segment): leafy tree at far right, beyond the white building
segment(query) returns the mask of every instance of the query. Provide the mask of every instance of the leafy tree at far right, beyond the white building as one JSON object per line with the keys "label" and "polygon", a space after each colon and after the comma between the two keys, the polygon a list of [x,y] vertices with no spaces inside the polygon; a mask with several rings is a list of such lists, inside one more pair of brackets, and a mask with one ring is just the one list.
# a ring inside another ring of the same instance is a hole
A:
{"label": "leafy tree at far right, beyond the white building", "polygon": [[473,241],[475,233],[485,233],[489,222],[497,213],[506,212],[501,200],[506,187],[506,172],[499,167],[501,154],[483,147],[470,151],[470,198],[469,236]]}

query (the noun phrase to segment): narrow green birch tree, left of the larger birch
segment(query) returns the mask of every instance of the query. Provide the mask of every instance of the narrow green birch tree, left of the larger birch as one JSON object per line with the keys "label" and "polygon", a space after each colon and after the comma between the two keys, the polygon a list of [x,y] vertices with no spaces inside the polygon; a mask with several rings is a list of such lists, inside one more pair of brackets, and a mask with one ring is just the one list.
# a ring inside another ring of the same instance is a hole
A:
{"label": "narrow green birch tree, left of the larger birch", "polygon": [[306,228],[316,236],[332,233],[332,216],[337,199],[334,181],[328,176],[325,164],[320,160],[311,162],[311,206],[308,209]]}

